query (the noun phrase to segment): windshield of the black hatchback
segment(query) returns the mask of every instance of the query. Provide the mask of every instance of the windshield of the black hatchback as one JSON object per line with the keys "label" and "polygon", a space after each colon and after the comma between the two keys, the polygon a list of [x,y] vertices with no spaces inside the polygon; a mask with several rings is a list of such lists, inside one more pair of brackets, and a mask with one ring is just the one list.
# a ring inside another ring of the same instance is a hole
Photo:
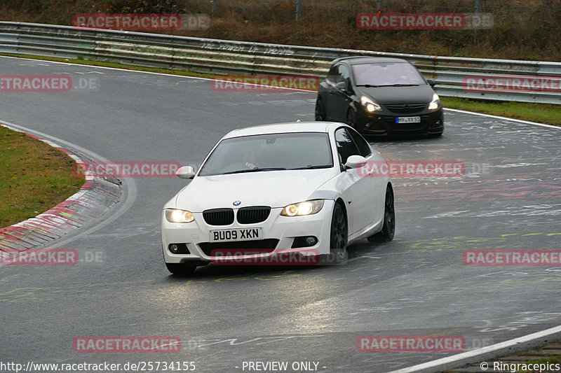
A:
{"label": "windshield of the black hatchback", "polygon": [[411,64],[357,64],[353,74],[357,86],[387,87],[426,84],[419,71]]}

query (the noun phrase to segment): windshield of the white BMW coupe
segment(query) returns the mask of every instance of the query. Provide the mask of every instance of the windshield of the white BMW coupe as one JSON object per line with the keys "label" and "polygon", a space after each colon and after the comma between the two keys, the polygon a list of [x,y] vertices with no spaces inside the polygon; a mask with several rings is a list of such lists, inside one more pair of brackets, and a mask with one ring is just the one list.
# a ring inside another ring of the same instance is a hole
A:
{"label": "windshield of the white BMW coupe", "polygon": [[327,134],[298,132],[220,141],[198,176],[333,167]]}

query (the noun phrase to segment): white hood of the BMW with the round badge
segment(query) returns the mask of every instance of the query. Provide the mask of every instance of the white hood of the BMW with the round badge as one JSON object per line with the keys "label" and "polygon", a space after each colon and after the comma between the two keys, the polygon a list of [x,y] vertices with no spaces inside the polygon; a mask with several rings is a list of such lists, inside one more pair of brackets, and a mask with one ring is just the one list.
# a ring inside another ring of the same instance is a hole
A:
{"label": "white hood of the BMW with the round badge", "polygon": [[[202,212],[225,207],[284,207],[306,201],[333,176],[334,168],[196,176],[177,193],[175,208]],[[241,204],[234,206],[234,201]]]}

